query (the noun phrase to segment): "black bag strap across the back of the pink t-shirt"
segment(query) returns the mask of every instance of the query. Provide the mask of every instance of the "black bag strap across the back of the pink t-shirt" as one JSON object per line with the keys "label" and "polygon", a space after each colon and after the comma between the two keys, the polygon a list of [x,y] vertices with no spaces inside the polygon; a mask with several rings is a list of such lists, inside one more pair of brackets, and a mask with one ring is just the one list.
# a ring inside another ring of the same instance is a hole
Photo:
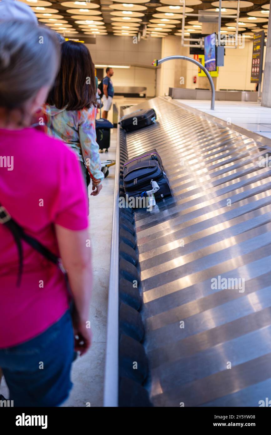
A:
{"label": "black bag strap across the back of the pink t-shirt", "polygon": [[0,204],[0,224],[4,225],[6,228],[10,230],[18,248],[19,271],[18,271],[17,286],[20,286],[21,277],[23,273],[23,247],[22,247],[21,239],[23,239],[35,251],[43,255],[43,257],[46,258],[48,261],[54,263],[58,268],[60,268],[60,270],[64,274],[66,274],[66,271],[60,261],[60,258],[58,258],[57,255],[53,254],[53,252],[51,252],[46,246],[40,243],[37,239],[26,234],[23,228],[16,221],[14,221],[13,218],[11,218],[6,208],[1,206],[1,204]]}

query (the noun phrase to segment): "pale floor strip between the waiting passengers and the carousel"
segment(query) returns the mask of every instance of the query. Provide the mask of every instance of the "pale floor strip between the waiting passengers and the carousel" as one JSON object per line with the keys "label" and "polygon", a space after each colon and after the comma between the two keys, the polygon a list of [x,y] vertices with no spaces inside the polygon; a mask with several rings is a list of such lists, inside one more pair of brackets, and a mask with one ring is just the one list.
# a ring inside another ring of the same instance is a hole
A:
{"label": "pale floor strip between the waiting passengers and the carousel", "polygon": [[[111,130],[108,153],[101,160],[116,159],[117,129]],[[93,293],[90,305],[90,326],[93,341],[87,355],[75,361],[72,370],[74,388],[64,406],[103,406],[104,364],[107,329],[107,294],[110,272],[112,209],[115,184],[115,166],[103,181],[97,197],[90,197],[90,240],[93,264]],[[91,189],[89,187],[89,194]]]}

